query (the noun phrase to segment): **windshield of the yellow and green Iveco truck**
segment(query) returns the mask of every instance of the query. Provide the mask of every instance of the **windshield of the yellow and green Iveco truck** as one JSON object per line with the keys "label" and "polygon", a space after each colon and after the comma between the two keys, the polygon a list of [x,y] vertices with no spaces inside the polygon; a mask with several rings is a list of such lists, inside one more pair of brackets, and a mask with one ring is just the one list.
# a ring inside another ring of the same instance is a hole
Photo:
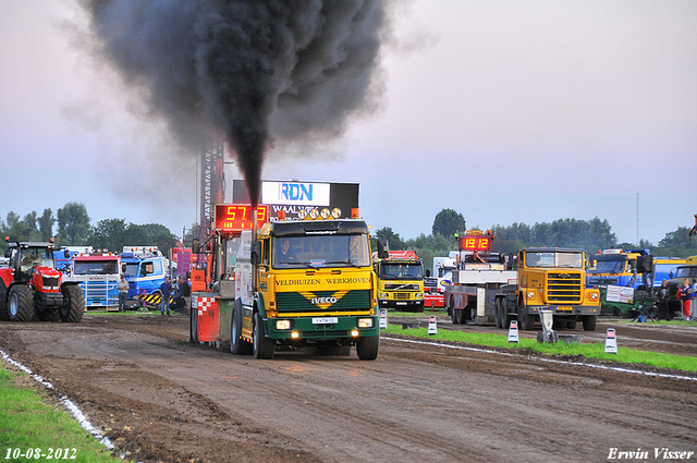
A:
{"label": "windshield of the yellow and green Iveco truck", "polygon": [[368,236],[303,235],[273,240],[273,268],[367,267],[370,265]]}

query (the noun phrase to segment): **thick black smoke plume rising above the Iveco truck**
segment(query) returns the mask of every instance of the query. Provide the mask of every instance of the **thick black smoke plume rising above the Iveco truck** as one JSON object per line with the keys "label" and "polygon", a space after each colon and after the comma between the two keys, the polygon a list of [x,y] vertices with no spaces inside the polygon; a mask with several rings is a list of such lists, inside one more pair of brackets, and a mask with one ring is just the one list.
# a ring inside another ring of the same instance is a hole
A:
{"label": "thick black smoke plume rising above the Iveco truck", "polygon": [[326,141],[380,96],[388,0],[81,0],[96,51],[196,149],[223,133],[249,197],[270,145]]}

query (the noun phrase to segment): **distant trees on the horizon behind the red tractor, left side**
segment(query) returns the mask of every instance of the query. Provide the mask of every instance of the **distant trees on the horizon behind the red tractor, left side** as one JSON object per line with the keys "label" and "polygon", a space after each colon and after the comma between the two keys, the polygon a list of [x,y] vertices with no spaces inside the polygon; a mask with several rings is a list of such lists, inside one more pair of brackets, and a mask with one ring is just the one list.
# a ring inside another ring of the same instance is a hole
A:
{"label": "distant trees on the horizon behind the red tractor, left side", "polygon": [[[56,215],[51,208],[40,216],[33,210],[24,217],[10,211],[5,220],[0,218],[0,232],[11,242],[56,240],[56,246],[93,246],[120,253],[123,246],[158,246],[162,253],[176,247],[176,236],[158,223],[136,224],[123,219],[105,219],[94,227],[87,208],[82,203],[68,203]],[[2,241],[4,251],[5,242]]]}

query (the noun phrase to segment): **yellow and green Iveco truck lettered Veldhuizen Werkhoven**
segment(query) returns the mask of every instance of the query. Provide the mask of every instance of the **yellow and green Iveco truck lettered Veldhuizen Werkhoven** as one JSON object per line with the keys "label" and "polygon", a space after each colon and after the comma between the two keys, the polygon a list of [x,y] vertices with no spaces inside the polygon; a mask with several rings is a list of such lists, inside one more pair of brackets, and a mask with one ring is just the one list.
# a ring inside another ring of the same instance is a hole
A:
{"label": "yellow and green Iveco truck lettered Veldhuizen Werkhoven", "polygon": [[[246,230],[234,243],[230,349],[255,358],[277,348],[355,345],[360,360],[380,346],[377,281],[365,221],[339,209]],[[224,247],[224,246],[223,246]],[[221,302],[222,303],[222,302]]]}

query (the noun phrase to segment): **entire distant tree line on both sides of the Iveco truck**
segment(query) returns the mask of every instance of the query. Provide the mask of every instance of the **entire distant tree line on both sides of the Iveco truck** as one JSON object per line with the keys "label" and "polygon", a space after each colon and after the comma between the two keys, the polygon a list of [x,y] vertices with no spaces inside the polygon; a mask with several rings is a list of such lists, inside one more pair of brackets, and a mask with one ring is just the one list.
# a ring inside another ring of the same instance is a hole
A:
{"label": "entire distant tree line on both sides of the Iveco truck", "polygon": [[[197,230],[197,224],[192,229]],[[377,249],[377,240],[387,240],[391,249],[412,249],[430,268],[433,257],[447,256],[457,249],[455,233],[467,230],[465,218],[453,209],[443,209],[436,215],[431,233],[419,234],[414,239],[402,239],[391,227],[383,227],[372,237],[372,249]],[[641,248],[650,249],[655,256],[687,257],[697,254],[697,239],[689,243],[687,227],[668,232],[653,245],[641,240],[638,244],[617,243],[608,220],[559,219],[551,223],[513,223],[511,226],[491,226],[488,230],[494,235],[493,252],[512,254],[523,247],[577,247],[595,254],[599,249]],[[487,230],[484,230],[485,232]],[[123,246],[158,246],[163,253],[176,246],[176,236],[164,226],[158,223],[135,224],[123,219],[105,219],[94,227],[82,203],[68,203],[53,211],[48,208],[39,216],[32,211],[24,217],[10,211],[5,220],[0,218],[0,232],[15,241],[49,241],[56,239],[60,246],[93,246],[98,249],[120,252]],[[0,244],[4,249],[4,241]]]}

